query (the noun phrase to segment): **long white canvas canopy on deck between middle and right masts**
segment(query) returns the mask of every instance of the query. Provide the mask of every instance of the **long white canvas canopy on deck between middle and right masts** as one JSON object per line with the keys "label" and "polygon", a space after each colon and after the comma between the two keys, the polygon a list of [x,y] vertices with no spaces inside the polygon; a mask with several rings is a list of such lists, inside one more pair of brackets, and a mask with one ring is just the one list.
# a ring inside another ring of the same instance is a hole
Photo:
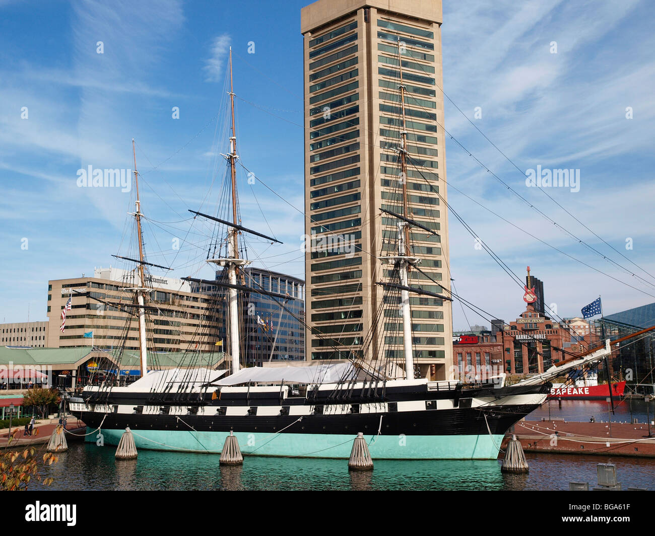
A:
{"label": "long white canvas canopy on deck between middle and right masts", "polygon": [[261,384],[280,382],[285,384],[331,384],[339,382],[339,380],[354,378],[354,376],[356,376],[356,370],[352,363],[318,366],[252,366],[242,368],[236,374],[227,376],[227,378],[214,382],[214,384],[238,385],[248,382],[259,382]]}

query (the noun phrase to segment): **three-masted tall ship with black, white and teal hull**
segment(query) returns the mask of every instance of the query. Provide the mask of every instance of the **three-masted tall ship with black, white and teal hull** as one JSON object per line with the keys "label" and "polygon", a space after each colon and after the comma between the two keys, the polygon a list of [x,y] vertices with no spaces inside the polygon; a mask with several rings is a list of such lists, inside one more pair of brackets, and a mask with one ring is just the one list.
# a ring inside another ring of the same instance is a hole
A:
{"label": "three-masted tall ship with black, white and teal hull", "polygon": [[[140,285],[133,289],[132,304],[124,305],[139,321],[141,378],[130,385],[120,385],[117,381],[88,385],[81,396],[71,399],[71,412],[88,427],[88,441],[95,442],[97,435],[102,434],[106,444],[116,445],[129,427],[137,448],[213,454],[221,452],[225,438],[233,434],[244,455],[347,458],[354,438],[362,433],[373,458],[496,459],[506,431],[546,400],[552,378],[609,354],[606,344],[514,385],[506,385],[503,373],[476,375],[469,380],[431,381],[415,377],[410,295],[451,298],[412,285],[408,277],[411,270],[420,270],[421,264],[411,248],[410,230],[419,228],[433,234],[434,231],[411,218],[407,182],[400,180],[407,176],[405,88],[400,65],[398,92],[402,116],[396,152],[402,211],[383,211],[384,217],[396,222],[396,249],[391,255],[379,257],[390,277],[373,283],[381,285],[389,300],[383,301],[379,323],[367,334],[367,341],[370,343],[384,332],[384,304],[398,304],[402,358],[386,357],[389,354],[384,350],[371,355],[370,348],[377,345],[364,344],[362,348],[369,350],[353,352],[343,363],[244,367],[242,318],[247,304],[240,296],[254,288],[257,293],[276,300],[280,308],[286,308],[297,296],[284,289],[273,292],[261,288],[256,281],[246,281],[248,273],[244,268],[250,260],[244,255],[244,237],[277,240],[246,228],[240,221],[231,54],[229,66],[231,135],[229,152],[223,155],[227,160],[226,188],[213,214],[192,211],[196,218],[215,226],[207,250],[212,255],[208,255],[206,262],[218,269],[217,277],[184,278],[215,289],[220,296],[217,302],[225,302],[227,359],[216,366],[200,365],[197,352],[189,348],[178,368],[149,369],[151,345],[145,323],[153,307],[147,303],[149,289],[145,272],[157,265],[146,260],[141,238],[143,214],[135,156],[134,218],[139,257],[129,260],[136,264]],[[305,323],[305,319],[299,321]],[[212,332],[205,335],[217,338]],[[399,339],[398,332],[395,337]],[[330,336],[322,338],[329,347]],[[380,339],[385,340],[384,336]]]}

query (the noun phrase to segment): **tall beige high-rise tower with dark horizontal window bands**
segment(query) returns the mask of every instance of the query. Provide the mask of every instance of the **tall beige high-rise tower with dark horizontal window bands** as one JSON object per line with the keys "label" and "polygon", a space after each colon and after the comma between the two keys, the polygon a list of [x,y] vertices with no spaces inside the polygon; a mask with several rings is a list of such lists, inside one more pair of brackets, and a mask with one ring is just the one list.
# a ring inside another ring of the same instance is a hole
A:
{"label": "tall beige high-rise tower with dark horizontal window bands", "polygon": [[[380,258],[397,249],[396,220],[380,209],[403,213],[403,181],[408,217],[438,233],[413,228],[421,272],[410,270],[409,285],[449,296],[440,26],[440,0],[319,0],[301,12],[310,359],[403,357],[398,301],[383,303],[375,284],[391,267]],[[417,373],[449,378],[450,303],[409,299]]]}

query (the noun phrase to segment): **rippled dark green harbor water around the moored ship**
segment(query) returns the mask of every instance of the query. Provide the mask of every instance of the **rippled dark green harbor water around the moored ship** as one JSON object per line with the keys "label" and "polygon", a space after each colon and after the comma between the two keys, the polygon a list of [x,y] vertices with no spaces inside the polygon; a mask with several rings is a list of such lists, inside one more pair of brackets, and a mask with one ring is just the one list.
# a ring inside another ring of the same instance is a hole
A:
{"label": "rippled dark green harbor water around the moored ship", "polygon": [[[527,419],[548,418],[548,402]],[[650,404],[650,418],[653,418]],[[610,418],[604,401],[550,402],[552,418],[596,421]],[[632,415],[646,421],[646,403],[632,401]],[[629,401],[612,421],[629,421]],[[347,460],[246,457],[242,467],[221,467],[219,456],[141,450],[138,459],[116,461],[115,447],[71,442],[52,476],[49,490],[567,490],[569,482],[596,484],[598,463],[615,463],[618,481],[654,489],[655,459],[620,456],[530,454],[528,474],[503,474],[500,460],[374,460],[370,473],[348,473]],[[32,489],[43,489],[35,484]]]}

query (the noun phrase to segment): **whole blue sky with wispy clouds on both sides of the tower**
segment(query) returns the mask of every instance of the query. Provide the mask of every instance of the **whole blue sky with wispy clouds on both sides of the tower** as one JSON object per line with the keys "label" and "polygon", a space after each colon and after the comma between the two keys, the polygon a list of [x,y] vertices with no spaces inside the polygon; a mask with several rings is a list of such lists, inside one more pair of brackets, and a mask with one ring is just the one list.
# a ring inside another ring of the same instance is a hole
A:
{"label": "whole blue sky with wispy clouds on both sides of the tower", "polygon": [[[242,162],[286,201],[242,177],[244,224],[263,232],[270,225],[285,242],[269,248],[253,243],[253,253],[261,257],[258,264],[304,277],[304,4],[0,0],[2,321],[26,320],[28,306],[31,320],[45,319],[48,279],[116,264],[111,255],[121,249],[134,192],[79,188],[77,171],[89,165],[131,169],[132,137],[151,222],[149,259],[176,268],[170,276],[211,277],[199,268],[204,257],[195,244],[202,229],[187,234],[187,209],[214,206],[219,192],[211,185],[222,177],[216,153],[225,147],[216,145],[223,138],[229,45]],[[453,209],[519,276],[529,264],[560,316],[578,314],[598,295],[606,313],[655,301],[655,279],[648,275],[655,275],[652,8],[629,0],[527,1],[519,8],[514,1],[458,0],[444,2],[443,19],[443,90],[466,116],[447,101],[445,128],[531,204],[630,273],[548,223],[447,137]],[[255,53],[249,54],[252,42]],[[173,107],[179,107],[178,119]],[[632,118],[626,118],[628,107]],[[521,170],[580,170],[580,191],[544,189],[645,272],[539,188],[527,187],[525,175],[467,118]],[[458,293],[514,319],[523,306],[521,290],[454,217],[449,225]],[[173,250],[172,240],[185,236],[188,242]],[[632,249],[626,249],[628,238]],[[464,329],[458,304],[453,314],[455,329]],[[471,324],[487,323],[467,315]]]}

